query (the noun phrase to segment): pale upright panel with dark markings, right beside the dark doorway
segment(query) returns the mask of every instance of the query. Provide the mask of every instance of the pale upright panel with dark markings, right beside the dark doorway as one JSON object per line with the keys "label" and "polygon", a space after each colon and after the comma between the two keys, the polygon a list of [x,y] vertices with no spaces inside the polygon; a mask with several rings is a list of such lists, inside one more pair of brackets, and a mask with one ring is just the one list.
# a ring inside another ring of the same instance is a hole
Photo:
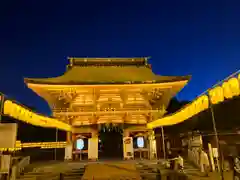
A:
{"label": "pale upright panel with dark markings, right beside the dark doorway", "polygon": [[123,138],[123,158],[131,159],[134,157],[132,137]]}

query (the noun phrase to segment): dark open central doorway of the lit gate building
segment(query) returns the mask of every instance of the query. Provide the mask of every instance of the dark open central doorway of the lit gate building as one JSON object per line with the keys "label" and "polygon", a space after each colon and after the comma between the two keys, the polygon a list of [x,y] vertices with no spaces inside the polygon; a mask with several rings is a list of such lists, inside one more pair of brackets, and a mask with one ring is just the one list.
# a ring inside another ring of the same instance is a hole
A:
{"label": "dark open central doorway of the lit gate building", "polygon": [[122,159],[123,136],[120,129],[102,129],[99,132],[99,159]]}

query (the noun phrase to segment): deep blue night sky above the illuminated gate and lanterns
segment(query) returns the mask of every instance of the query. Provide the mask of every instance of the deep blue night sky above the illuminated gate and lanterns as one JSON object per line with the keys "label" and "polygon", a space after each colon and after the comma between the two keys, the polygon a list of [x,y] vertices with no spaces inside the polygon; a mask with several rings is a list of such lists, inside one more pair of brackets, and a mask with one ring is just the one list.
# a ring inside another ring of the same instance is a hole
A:
{"label": "deep blue night sky above the illuminated gate and lanterns", "polygon": [[[81,3],[82,2],[82,3]],[[160,75],[192,75],[191,100],[240,68],[240,1],[0,2],[0,91],[49,112],[24,77],[61,75],[68,56],[151,56]]]}

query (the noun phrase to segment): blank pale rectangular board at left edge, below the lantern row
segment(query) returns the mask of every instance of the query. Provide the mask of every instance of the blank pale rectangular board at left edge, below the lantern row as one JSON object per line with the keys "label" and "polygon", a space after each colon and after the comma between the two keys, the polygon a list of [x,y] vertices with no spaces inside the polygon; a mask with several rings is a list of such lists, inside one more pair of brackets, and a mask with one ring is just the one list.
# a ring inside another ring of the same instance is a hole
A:
{"label": "blank pale rectangular board at left edge, below the lantern row", "polygon": [[15,148],[17,141],[17,124],[0,123],[0,148]]}

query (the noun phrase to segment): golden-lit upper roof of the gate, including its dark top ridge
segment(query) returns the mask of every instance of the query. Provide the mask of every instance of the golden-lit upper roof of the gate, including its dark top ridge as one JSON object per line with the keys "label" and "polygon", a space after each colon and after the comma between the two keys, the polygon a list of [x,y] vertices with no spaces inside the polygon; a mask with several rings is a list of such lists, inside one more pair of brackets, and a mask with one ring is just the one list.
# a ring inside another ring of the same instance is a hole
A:
{"label": "golden-lit upper roof of the gate, including its dark top ridge", "polygon": [[25,78],[26,83],[50,85],[139,84],[189,80],[190,76],[160,76],[152,72],[147,58],[69,58],[67,71],[59,77]]}

